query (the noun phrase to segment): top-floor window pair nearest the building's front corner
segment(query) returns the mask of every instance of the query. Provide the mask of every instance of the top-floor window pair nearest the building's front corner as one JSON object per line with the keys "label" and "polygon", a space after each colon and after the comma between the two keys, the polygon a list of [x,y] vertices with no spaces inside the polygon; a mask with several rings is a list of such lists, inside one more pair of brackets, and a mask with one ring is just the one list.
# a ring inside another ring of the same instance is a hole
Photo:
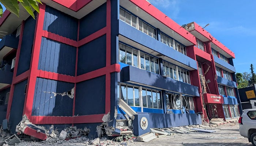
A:
{"label": "top-floor window pair nearest the building's front corner", "polygon": [[[149,35],[154,39],[157,39],[157,30],[155,28],[153,28],[146,22],[143,22],[142,20],[139,20],[139,22],[137,22],[138,17],[136,17],[133,14],[130,14],[122,8],[119,9],[119,18],[120,20],[129,24],[130,26],[135,27],[136,29],[144,32],[145,34]],[[139,28],[137,28],[137,24]]]}

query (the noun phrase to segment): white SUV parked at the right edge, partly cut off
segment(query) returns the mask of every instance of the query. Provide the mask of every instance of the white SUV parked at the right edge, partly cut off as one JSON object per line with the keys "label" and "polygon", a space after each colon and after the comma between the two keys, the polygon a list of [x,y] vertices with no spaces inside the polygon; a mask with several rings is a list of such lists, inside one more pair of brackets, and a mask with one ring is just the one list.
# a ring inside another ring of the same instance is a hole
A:
{"label": "white SUV parked at the right edge, partly cut off", "polygon": [[238,120],[239,132],[243,137],[248,138],[253,146],[256,146],[256,108],[243,110]]}

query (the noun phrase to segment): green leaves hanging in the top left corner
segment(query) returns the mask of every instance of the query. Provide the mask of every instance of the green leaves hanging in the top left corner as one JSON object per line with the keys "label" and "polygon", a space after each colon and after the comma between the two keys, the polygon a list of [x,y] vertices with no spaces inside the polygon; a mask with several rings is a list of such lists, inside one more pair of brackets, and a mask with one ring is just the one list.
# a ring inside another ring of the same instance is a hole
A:
{"label": "green leaves hanging in the top left corner", "polygon": [[[41,3],[40,0],[0,0],[0,3],[9,10],[11,13],[19,17],[19,3],[26,9],[26,11],[35,19],[33,9],[39,13],[39,7],[37,3]],[[0,4],[0,17],[3,16],[3,7]]]}

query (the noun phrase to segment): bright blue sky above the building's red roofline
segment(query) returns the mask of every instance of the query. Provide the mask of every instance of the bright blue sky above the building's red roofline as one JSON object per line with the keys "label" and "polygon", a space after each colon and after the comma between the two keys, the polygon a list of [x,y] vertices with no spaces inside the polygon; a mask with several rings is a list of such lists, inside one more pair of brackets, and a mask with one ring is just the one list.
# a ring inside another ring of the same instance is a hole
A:
{"label": "bright blue sky above the building's red roofline", "polygon": [[256,72],[255,0],[148,0],[178,24],[196,22],[233,51],[236,72]]}

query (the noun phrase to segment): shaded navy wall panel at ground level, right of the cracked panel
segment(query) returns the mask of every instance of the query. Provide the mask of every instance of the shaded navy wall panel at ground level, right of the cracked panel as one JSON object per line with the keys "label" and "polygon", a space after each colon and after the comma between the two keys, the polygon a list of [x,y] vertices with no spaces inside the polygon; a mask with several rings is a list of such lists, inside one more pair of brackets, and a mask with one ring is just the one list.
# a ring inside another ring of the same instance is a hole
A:
{"label": "shaded navy wall panel at ground level, right of the cracked panel", "polygon": [[75,115],[105,114],[106,76],[76,84]]}

